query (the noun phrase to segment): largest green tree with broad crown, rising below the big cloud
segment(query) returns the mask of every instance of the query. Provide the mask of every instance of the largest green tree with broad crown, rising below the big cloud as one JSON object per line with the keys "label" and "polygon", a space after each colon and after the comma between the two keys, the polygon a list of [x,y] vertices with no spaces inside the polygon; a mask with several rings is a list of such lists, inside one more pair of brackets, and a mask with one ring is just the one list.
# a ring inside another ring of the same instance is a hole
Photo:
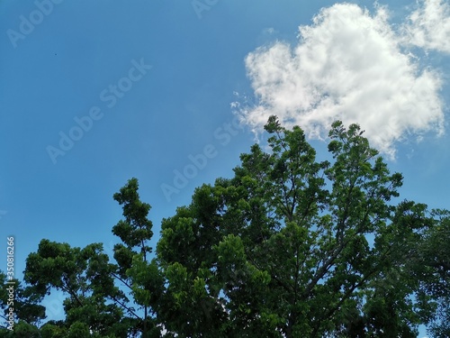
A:
{"label": "largest green tree with broad crown, rising below the big cloud", "polygon": [[163,221],[166,327],[186,337],[415,336],[424,314],[404,243],[428,218],[421,205],[392,204],[401,174],[356,124],[333,123],[333,162],[316,160],[299,127],[272,116],[266,131],[271,151],[254,145],[234,178],[197,188]]}

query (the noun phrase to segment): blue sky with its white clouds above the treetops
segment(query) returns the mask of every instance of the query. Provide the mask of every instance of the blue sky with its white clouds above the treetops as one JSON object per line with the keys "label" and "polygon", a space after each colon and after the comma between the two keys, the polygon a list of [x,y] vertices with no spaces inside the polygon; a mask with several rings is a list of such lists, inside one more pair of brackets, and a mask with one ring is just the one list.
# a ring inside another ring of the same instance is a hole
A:
{"label": "blue sky with its white clouds above the treetops", "polygon": [[[0,233],[17,275],[42,238],[108,248],[132,177],[156,242],[194,187],[264,142],[269,114],[311,140],[360,123],[401,198],[447,208],[449,18],[436,0],[0,0]],[[174,170],[190,178],[175,187]]]}

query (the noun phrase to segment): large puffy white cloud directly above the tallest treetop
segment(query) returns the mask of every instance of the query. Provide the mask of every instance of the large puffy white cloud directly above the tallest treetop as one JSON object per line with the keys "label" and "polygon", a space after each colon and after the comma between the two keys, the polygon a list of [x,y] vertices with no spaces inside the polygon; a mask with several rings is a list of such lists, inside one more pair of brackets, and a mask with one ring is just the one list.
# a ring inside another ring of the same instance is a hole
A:
{"label": "large puffy white cloud directly above the tallest treetop", "polygon": [[258,103],[240,114],[257,131],[275,114],[312,138],[326,137],[337,119],[359,123],[393,157],[405,135],[444,132],[442,80],[432,69],[420,71],[401,41],[385,7],[375,14],[350,4],[324,8],[300,27],[296,46],[277,41],[247,55]]}

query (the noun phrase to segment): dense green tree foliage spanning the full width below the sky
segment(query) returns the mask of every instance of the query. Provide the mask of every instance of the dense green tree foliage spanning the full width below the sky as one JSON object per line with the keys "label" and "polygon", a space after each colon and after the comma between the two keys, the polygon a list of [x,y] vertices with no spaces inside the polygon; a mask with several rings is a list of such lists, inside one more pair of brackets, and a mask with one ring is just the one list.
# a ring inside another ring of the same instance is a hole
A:
{"label": "dense green tree foliage spanning the full width below the sky", "polygon": [[[333,123],[329,161],[299,127],[273,116],[266,132],[270,151],[254,145],[163,220],[156,252],[136,178],[113,196],[114,262],[100,243],[42,240],[0,336],[450,336],[450,214],[398,201],[401,174],[356,124]],[[52,290],[66,318],[42,324]]]}

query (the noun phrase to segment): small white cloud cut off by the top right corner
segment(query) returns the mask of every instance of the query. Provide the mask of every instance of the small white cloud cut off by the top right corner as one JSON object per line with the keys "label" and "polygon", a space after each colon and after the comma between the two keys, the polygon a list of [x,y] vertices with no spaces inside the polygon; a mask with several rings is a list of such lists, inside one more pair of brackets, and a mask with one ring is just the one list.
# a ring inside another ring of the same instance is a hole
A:
{"label": "small white cloud cut off by the top right corner", "polygon": [[450,5],[424,0],[403,25],[407,42],[426,50],[450,53]]}

